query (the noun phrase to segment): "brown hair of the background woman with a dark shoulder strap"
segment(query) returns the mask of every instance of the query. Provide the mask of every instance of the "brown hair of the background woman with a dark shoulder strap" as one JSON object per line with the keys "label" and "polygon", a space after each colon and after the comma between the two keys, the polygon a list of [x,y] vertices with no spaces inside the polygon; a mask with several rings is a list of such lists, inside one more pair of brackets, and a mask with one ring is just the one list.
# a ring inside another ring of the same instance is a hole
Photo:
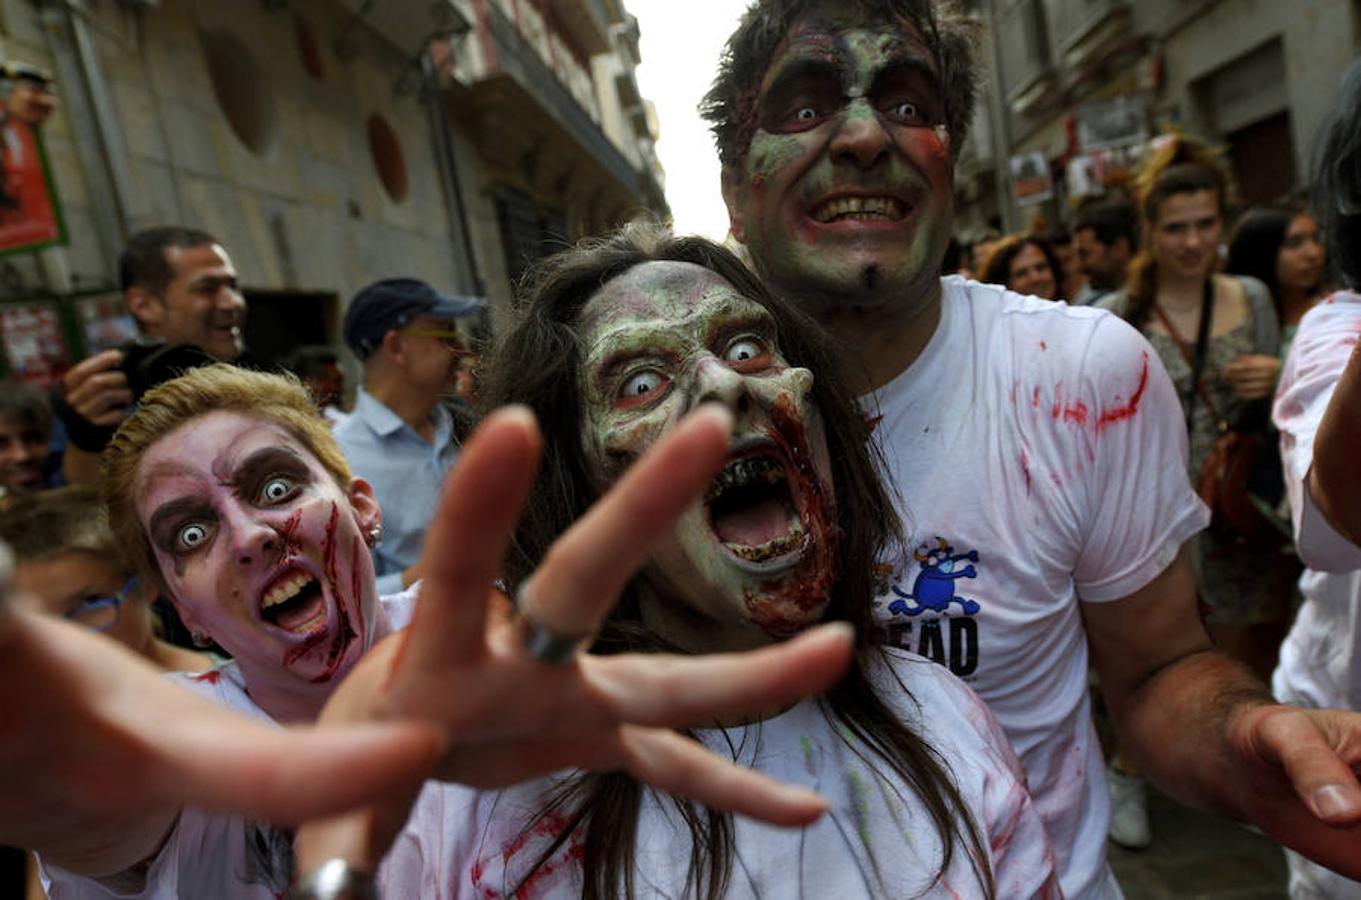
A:
{"label": "brown hair of the background woman with a dark shoulder strap", "polygon": [[[1190,138],[1172,138],[1143,165],[1135,187],[1145,240],[1143,249],[1130,263],[1124,317],[1135,328],[1142,328],[1158,300],[1158,260],[1153,255],[1153,230],[1158,226],[1162,202],[1180,193],[1214,191],[1222,219],[1228,216],[1230,184],[1218,157],[1204,144]],[[1206,278],[1213,278],[1213,274],[1207,272]]]}

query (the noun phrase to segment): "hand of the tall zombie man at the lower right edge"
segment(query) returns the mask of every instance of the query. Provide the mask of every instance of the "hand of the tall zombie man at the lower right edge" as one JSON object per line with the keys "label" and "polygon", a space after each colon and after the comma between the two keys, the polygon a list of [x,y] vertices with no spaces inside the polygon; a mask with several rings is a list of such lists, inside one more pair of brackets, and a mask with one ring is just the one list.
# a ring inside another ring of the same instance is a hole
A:
{"label": "hand of the tall zombie man at the lower right edge", "polygon": [[1266,704],[1244,712],[1232,734],[1256,773],[1243,784],[1249,818],[1286,847],[1361,878],[1361,713]]}

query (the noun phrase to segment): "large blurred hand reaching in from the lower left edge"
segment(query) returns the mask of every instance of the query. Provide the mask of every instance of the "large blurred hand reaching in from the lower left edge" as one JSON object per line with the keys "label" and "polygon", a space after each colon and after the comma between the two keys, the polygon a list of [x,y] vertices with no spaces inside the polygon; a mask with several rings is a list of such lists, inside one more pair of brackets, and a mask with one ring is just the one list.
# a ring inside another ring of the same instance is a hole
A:
{"label": "large blurred hand reaching in from the lower left edge", "polygon": [[112,855],[132,833],[154,851],[181,806],[298,822],[410,786],[441,746],[396,722],[278,728],[108,637],[5,609],[0,709],[0,844],[86,874],[137,862]]}

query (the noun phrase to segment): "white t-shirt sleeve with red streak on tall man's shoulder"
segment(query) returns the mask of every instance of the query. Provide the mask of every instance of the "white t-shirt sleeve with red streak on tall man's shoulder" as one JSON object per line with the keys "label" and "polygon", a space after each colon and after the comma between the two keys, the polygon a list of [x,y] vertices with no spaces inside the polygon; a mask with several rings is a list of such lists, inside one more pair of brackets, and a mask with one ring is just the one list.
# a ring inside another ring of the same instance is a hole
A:
{"label": "white t-shirt sleeve with red streak on tall man's shoulder", "polygon": [[1170,565],[1210,523],[1210,511],[1187,478],[1181,402],[1143,335],[1121,319],[1102,317],[1082,376],[1096,413],[1074,581],[1083,600],[1117,600]]}

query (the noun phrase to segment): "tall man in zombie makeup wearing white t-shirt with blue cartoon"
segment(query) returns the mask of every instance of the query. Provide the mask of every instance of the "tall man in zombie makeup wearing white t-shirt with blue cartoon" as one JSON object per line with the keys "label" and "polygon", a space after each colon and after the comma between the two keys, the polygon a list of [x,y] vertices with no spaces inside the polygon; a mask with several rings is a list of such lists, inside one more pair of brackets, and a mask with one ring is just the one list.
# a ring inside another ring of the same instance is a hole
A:
{"label": "tall man in zombie makeup wearing white t-shirt with blue cartoon", "polygon": [[[1213,651],[1181,551],[1209,516],[1157,355],[1096,310],[936,276],[972,37],[946,1],[761,0],[702,109],[734,237],[840,342],[905,498],[882,632],[988,701],[1067,896],[1119,896],[1089,652],[1160,787],[1356,871],[1332,826],[1361,821],[1358,760],[1334,748],[1361,719],[1274,705]],[[1315,762],[1288,775],[1298,746]]]}

